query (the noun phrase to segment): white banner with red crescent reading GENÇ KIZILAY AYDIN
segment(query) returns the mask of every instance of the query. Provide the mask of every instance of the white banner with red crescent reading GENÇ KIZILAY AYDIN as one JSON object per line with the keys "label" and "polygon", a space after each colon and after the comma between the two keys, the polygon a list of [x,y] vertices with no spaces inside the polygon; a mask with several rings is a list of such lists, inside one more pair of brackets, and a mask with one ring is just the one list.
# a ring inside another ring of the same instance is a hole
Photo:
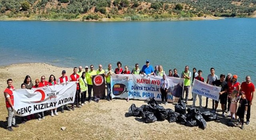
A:
{"label": "white banner with red crescent reading GEN\u00c7 KIZILAY AYDIN", "polygon": [[28,116],[73,103],[76,95],[76,82],[34,88],[17,89],[14,94],[14,113],[16,116]]}

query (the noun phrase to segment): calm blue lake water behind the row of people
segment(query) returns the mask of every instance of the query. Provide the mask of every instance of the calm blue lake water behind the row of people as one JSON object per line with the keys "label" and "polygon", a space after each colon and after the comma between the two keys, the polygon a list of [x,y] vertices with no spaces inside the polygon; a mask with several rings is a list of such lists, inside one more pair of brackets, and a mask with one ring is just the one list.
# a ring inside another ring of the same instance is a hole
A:
{"label": "calm blue lake water behind the row of people", "polygon": [[186,65],[250,75],[256,83],[256,18],[156,22],[0,21],[0,65],[42,62],[64,67],[109,63],[140,68],[146,59],[178,69]]}

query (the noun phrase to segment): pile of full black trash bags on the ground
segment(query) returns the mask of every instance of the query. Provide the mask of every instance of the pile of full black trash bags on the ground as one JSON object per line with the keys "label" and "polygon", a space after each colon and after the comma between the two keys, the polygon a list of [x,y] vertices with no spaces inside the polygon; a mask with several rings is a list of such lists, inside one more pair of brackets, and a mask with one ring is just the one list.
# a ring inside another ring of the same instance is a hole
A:
{"label": "pile of full black trash bags on the ground", "polygon": [[144,123],[152,123],[155,121],[168,120],[177,122],[185,126],[199,126],[202,129],[206,128],[206,121],[217,120],[217,115],[211,112],[200,112],[197,108],[187,108],[184,101],[176,104],[175,111],[158,105],[156,100],[152,98],[148,105],[136,107],[132,104],[129,108],[129,115],[135,117],[142,117]]}

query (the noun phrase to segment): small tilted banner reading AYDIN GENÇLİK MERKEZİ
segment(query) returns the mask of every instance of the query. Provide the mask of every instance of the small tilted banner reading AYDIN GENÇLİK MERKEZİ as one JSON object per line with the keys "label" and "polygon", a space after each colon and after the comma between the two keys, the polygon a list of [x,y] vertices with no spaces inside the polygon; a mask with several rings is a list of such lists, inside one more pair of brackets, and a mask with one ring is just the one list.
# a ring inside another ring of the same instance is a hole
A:
{"label": "small tilted banner reading AYDIN GEN\u00c7L\u0130K MERKEZ\u0130", "polygon": [[218,101],[220,96],[221,87],[206,84],[199,80],[194,79],[192,92],[198,95],[206,96],[213,100]]}

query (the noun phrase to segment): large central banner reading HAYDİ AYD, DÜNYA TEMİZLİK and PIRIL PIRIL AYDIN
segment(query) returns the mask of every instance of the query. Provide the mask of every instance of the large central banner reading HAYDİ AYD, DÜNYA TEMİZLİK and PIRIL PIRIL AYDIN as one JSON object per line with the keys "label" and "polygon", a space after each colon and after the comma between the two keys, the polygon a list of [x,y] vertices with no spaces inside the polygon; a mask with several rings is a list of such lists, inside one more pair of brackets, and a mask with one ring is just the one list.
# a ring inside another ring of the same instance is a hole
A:
{"label": "large central banner reading HAYD\u0130 AYD, D\u00dcNYA TEM\u0130ZL\u0130K and PIRIL PIRIL AYDIN", "polygon": [[[140,100],[161,100],[160,80],[162,76],[137,74],[116,74],[111,76],[112,98],[133,98]],[[169,81],[168,102],[178,102],[182,95],[183,78],[166,77]]]}

